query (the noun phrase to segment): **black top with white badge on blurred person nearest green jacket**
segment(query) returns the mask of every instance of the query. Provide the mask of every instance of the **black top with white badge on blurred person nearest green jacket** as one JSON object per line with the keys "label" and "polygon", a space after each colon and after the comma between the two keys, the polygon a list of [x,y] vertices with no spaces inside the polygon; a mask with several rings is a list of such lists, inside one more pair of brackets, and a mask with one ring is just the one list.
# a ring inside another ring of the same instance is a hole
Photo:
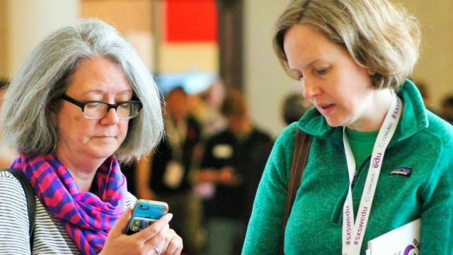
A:
{"label": "black top with white badge on blurred person nearest green jacket", "polygon": [[257,129],[247,137],[235,137],[226,130],[207,140],[200,168],[234,168],[243,180],[239,185],[218,184],[214,198],[205,203],[207,217],[225,217],[248,222],[258,183],[270,150],[272,138]]}

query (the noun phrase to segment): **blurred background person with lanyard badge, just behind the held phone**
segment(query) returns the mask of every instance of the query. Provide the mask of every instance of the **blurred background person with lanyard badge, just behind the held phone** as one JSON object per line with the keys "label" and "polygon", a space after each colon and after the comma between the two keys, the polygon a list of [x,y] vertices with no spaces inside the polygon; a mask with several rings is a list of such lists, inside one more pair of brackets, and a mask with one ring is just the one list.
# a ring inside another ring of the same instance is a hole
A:
{"label": "blurred background person with lanyard badge, just behind the held phone", "polygon": [[165,95],[166,135],[152,154],[139,161],[137,193],[140,198],[163,200],[175,217],[173,229],[184,240],[184,253],[200,254],[201,202],[190,179],[193,153],[201,139],[200,124],[189,115],[188,94],[176,86]]}

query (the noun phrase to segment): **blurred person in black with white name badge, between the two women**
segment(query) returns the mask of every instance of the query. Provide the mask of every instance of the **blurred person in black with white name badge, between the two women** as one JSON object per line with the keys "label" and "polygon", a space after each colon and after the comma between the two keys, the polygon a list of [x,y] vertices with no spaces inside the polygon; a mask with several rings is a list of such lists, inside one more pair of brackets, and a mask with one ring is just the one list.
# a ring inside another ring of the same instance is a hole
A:
{"label": "blurred person in black with white name badge, between the two women", "polygon": [[210,137],[195,180],[212,183],[205,200],[207,254],[241,254],[256,187],[273,140],[253,125],[240,91],[229,89],[221,108],[228,128]]}

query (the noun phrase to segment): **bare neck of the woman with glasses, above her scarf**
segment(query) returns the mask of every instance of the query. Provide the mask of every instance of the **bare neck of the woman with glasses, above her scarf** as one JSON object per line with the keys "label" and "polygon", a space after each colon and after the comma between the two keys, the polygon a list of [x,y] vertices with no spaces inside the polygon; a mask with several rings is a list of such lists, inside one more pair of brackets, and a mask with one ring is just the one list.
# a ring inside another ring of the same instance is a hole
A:
{"label": "bare neck of the woman with glasses, above her scarf", "polygon": [[58,151],[57,157],[59,162],[61,162],[68,169],[69,173],[71,173],[72,179],[74,179],[81,192],[90,191],[96,171],[105,161],[105,159],[75,159],[74,155],[59,153]]}

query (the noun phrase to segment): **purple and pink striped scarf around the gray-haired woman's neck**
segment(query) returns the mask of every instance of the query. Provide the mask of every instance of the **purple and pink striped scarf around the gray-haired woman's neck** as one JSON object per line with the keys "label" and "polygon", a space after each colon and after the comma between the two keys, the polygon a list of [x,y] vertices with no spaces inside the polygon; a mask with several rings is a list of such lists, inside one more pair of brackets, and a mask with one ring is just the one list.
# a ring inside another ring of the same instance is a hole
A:
{"label": "purple and pink striped scarf around the gray-haired woman's neck", "polygon": [[93,181],[96,195],[81,192],[55,154],[19,155],[11,168],[25,172],[35,194],[64,229],[82,254],[98,254],[107,233],[125,210],[126,179],[115,157],[99,167]]}

